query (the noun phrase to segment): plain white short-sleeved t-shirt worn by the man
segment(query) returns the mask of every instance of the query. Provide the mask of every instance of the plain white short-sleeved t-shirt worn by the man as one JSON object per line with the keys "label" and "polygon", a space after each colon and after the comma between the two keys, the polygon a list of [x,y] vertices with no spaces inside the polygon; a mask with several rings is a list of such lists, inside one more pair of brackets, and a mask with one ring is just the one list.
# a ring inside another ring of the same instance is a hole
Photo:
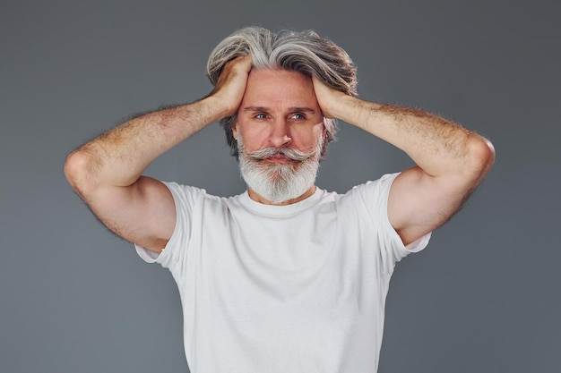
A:
{"label": "plain white short-sleeved t-shirt worn by the man", "polygon": [[193,373],[375,372],[403,246],[387,217],[397,174],[288,206],[167,183],[177,225],[160,256],[183,306]]}

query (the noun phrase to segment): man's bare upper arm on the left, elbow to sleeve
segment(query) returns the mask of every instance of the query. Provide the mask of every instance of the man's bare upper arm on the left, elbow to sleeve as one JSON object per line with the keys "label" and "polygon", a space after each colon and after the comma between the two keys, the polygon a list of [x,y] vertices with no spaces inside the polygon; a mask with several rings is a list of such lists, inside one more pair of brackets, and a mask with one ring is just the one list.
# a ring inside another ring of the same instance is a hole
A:
{"label": "man's bare upper arm on the left, elbow to sleeve", "polygon": [[127,187],[100,187],[86,202],[109,230],[148,250],[160,252],[176,225],[171,192],[150,177]]}

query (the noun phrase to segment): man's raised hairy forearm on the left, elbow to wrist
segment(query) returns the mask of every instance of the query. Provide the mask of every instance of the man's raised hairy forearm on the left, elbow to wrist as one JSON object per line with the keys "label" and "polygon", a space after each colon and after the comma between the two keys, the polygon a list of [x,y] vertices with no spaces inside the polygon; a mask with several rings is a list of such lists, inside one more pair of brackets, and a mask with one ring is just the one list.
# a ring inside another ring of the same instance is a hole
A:
{"label": "man's raised hairy forearm on the left, elbow to wrist", "polygon": [[131,119],[75,150],[65,172],[79,191],[101,185],[129,186],[162,153],[220,119],[212,97]]}

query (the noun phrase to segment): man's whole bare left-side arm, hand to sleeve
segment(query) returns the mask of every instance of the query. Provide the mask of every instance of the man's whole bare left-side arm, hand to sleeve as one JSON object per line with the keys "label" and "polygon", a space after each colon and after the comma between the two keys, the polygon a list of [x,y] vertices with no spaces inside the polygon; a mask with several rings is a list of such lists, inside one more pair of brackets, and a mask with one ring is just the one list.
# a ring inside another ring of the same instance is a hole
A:
{"label": "man's whole bare left-side arm, hand to sleeve", "polygon": [[144,114],[73,151],[65,175],[101,222],[125,240],[160,252],[176,224],[171,193],[142,176],[156,157],[205,126],[234,114],[246,90],[249,56],[226,64],[208,97]]}

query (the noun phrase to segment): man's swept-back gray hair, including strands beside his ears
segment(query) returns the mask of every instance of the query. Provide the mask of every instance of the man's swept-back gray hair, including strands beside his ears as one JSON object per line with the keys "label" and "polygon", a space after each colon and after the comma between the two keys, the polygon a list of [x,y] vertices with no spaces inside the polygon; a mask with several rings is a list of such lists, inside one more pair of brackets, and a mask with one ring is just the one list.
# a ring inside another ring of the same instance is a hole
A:
{"label": "man's swept-back gray hair, including strands beside his ears", "polygon": [[[260,27],[237,30],[214,48],[206,65],[206,73],[213,86],[216,85],[222,68],[229,61],[243,55],[251,55],[255,68],[281,69],[314,75],[333,89],[350,96],[357,94],[357,68],[350,56],[341,47],[327,38],[321,38],[312,30],[272,32]],[[232,126],[237,115],[220,120],[226,131],[226,140],[232,156],[238,158],[237,141]],[[336,124],[324,118],[326,136],[321,157],[327,145],[335,139]]]}

